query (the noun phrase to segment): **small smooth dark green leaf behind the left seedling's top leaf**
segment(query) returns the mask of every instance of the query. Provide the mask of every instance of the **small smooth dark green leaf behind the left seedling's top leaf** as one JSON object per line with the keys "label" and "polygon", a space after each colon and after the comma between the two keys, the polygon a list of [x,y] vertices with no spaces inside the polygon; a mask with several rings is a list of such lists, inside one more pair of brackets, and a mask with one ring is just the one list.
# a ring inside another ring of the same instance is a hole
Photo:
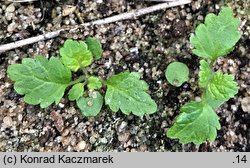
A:
{"label": "small smooth dark green leaf behind the left seedling's top leaf", "polygon": [[100,59],[102,57],[102,45],[100,41],[96,38],[88,37],[86,43],[89,47],[89,50],[95,56],[95,59]]}

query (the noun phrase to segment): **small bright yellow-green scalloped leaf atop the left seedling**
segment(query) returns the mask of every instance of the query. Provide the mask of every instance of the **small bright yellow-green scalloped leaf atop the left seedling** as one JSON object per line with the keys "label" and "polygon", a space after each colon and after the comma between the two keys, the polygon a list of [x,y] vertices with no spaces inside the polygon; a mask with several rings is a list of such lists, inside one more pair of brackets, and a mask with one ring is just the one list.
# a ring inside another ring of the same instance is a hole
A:
{"label": "small bright yellow-green scalloped leaf atop the left seedling", "polygon": [[60,55],[63,64],[74,72],[80,67],[90,65],[93,61],[92,53],[83,41],[66,40],[60,49]]}

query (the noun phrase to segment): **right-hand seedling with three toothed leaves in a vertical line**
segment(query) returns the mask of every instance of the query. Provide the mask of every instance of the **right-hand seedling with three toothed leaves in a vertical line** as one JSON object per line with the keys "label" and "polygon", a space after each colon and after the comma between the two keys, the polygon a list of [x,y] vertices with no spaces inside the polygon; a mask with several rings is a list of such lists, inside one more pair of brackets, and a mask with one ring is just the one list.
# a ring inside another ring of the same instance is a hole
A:
{"label": "right-hand seedling with three toothed leaves in a vertical line", "polygon": [[213,71],[218,57],[230,53],[240,39],[240,20],[234,18],[230,8],[222,8],[218,16],[208,14],[205,23],[200,24],[190,42],[193,53],[200,61],[199,87],[203,91],[202,100],[189,102],[181,107],[174,125],[167,131],[170,138],[178,138],[181,143],[201,144],[214,141],[221,128],[215,113],[221,104],[238,92],[234,76]]}

